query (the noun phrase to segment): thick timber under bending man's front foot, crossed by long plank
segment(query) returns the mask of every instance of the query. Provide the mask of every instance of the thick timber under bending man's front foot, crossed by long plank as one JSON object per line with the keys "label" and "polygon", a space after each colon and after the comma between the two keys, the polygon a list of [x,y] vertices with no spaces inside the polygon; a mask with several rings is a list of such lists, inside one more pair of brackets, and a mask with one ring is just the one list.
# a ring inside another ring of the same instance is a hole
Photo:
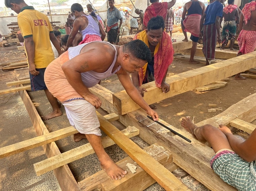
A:
{"label": "thick timber under bending man's front foot, crossed by long plank", "polygon": [[[153,144],[144,148],[143,150],[145,150],[146,153],[148,153],[155,160],[165,166],[165,168],[170,172],[177,169],[177,165],[172,162],[171,153],[164,149],[164,147],[161,147],[158,144]],[[135,164],[138,166],[136,173],[132,174],[131,172],[128,172],[128,174],[125,175],[121,180],[113,181],[108,177],[104,170],[101,170],[94,175],[87,177],[83,181],[78,182],[78,185],[80,186],[81,190],[84,191],[94,191],[101,189],[105,191],[142,191],[155,183],[155,180],[149,176],[142,168],[140,168],[139,165],[136,164],[131,157],[126,157],[118,161],[116,164],[120,166],[120,168],[127,170],[127,163]]]}

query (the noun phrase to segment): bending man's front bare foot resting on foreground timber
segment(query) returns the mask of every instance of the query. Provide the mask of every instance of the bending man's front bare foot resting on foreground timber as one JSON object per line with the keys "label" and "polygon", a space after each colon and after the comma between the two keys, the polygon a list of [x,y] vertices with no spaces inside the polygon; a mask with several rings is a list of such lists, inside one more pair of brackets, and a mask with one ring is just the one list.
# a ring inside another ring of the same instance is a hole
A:
{"label": "bending man's front bare foot resting on foreground timber", "polygon": [[[101,161],[100,161],[101,162]],[[101,168],[107,173],[112,180],[118,180],[127,174],[127,171],[117,166],[111,158],[101,162]]]}

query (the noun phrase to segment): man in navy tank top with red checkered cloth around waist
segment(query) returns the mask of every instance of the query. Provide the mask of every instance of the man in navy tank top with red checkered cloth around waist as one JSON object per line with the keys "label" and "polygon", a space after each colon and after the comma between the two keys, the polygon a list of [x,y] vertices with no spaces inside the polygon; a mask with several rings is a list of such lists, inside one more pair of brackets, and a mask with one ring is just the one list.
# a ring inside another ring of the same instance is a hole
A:
{"label": "man in navy tank top with red checkered cloth around waist", "polygon": [[[184,34],[184,39],[182,41],[189,41],[187,36],[187,31],[191,33],[190,39],[192,40],[192,48],[190,53],[190,64],[198,64],[198,61],[194,60],[196,54],[196,47],[199,40],[200,34],[200,19],[205,11],[205,5],[203,2],[198,0],[192,0],[184,5],[181,20],[181,29]],[[187,17],[186,17],[187,14]]]}

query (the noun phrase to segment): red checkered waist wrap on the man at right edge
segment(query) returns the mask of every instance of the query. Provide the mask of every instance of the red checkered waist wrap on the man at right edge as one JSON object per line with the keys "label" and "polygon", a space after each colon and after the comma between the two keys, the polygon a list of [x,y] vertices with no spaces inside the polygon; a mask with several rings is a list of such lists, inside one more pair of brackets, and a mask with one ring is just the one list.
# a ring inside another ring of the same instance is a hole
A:
{"label": "red checkered waist wrap on the man at right edge", "polygon": [[241,30],[237,41],[239,46],[238,53],[247,54],[256,48],[256,31]]}

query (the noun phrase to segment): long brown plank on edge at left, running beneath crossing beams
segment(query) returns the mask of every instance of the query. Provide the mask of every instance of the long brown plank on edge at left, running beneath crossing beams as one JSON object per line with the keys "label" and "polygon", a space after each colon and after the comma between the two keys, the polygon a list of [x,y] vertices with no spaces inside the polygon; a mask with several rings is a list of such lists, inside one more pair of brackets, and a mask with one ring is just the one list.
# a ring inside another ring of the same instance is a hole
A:
{"label": "long brown plank on edge at left, running beneath crossing beams", "polygon": [[[16,79],[19,80],[18,78]],[[19,94],[28,111],[29,117],[31,118],[31,122],[35,128],[37,135],[40,136],[40,135],[49,133],[44,122],[42,121],[41,117],[36,111],[34,104],[29,98],[28,93],[25,90],[23,90],[23,91],[19,91]],[[60,151],[55,142],[48,143],[46,145],[43,145],[42,147],[45,150],[45,154],[48,158],[60,154]],[[79,191],[80,190],[68,165],[60,166],[59,168],[53,170],[53,172],[55,174],[56,179],[59,182],[59,185],[62,191]]]}

